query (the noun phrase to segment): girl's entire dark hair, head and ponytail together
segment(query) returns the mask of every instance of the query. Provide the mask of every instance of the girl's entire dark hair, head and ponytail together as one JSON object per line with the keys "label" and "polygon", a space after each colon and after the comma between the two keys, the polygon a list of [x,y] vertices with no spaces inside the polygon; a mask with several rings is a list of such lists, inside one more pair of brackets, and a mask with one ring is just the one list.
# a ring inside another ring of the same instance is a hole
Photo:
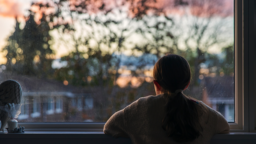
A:
{"label": "girl's entire dark hair, head and ponytail together", "polygon": [[201,134],[198,121],[197,103],[182,92],[191,79],[189,63],[176,54],[166,54],[154,66],[153,77],[168,94],[165,105],[165,116],[162,121],[167,137],[176,142],[193,141]]}

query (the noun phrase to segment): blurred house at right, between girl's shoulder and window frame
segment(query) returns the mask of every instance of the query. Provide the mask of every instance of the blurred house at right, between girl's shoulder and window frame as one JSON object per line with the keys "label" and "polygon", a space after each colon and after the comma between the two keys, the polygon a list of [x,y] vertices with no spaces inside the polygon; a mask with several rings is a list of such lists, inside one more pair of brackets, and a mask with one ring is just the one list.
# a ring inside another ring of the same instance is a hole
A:
{"label": "blurred house at right, between girl's shoulder and window frame", "polygon": [[234,122],[234,77],[204,77],[200,87],[201,101],[219,111],[228,122]]}

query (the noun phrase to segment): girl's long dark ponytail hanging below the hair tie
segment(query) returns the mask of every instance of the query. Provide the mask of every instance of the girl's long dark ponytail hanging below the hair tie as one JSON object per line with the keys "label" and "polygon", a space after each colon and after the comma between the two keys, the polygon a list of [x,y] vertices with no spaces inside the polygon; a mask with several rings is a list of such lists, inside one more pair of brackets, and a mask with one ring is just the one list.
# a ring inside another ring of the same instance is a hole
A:
{"label": "girl's long dark ponytail hanging below the hair tie", "polygon": [[191,101],[182,92],[172,94],[167,92],[162,127],[167,132],[167,137],[172,137],[176,142],[193,141],[200,135],[201,125],[198,121],[197,103]]}

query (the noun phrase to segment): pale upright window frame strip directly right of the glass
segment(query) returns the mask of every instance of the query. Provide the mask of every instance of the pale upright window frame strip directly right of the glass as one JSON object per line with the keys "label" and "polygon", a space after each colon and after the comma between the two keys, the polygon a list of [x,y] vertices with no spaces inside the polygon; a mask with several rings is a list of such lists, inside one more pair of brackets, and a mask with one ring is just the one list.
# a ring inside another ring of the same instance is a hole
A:
{"label": "pale upright window frame strip directly right of the glass", "polygon": [[244,111],[243,107],[243,1],[235,0],[234,19],[235,19],[235,43],[234,43],[234,60],[235,60],[235,122],[229,123],[231,131],[244,130]]}

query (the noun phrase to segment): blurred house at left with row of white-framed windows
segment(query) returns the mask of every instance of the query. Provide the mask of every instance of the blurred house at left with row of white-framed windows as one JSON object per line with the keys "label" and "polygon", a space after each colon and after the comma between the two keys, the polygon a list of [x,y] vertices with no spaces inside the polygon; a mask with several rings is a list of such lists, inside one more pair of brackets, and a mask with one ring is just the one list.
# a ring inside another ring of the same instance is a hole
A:
{"label": "blurred house at left with row of white-framed windows", "polygon": [[[0,81],[7,79],[14,79],[22,87],[18,121],[93,121],[94,98],[85,89],[55,80],[1,73]],[[85,114],[88,119],[82,117]]]}

